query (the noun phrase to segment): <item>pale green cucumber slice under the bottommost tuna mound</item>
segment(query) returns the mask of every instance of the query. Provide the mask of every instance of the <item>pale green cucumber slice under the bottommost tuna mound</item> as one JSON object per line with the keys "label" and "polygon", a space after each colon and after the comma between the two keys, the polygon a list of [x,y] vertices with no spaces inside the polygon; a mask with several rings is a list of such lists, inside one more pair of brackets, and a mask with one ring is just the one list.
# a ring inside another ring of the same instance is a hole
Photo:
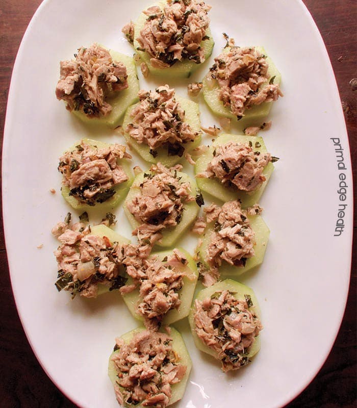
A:
{"label": "pale green cucumber slice under the bottommost tuna mound", "polygon": [[[188,381],[188,377],[190,375],[190,371],[192,368],[192,362],[191,362],[191,358],[190,355],[187,351],[185,342],[181,336],[181,334],[179,333],[179,331],[177,331],[175,328],[170,327],[171,329],[171,333],[170,333],[170,337],[172,338],[172,348],[173,350],[177,353],[177,355],[179,356],[179,363],[183,364],[185,366],[187,366],[187,370],[186,373],[183,377],[183,379],[180,382],[177,382],[177,384],[173,384],[171,386],[171,398],[169,400],[168,405],[173,404],[176,401],[179,401],[184,393],[185,393],[185,389],[186,389],[186,385],[187,385],[187,381]],[[120,338],[126,343],[129,344],[130,341],[132,340],[132,338],[136,335],[141,333],[141,331],[144,331],[145,328],[144,327],[138,327],[132,331],[129,331],[129,333],[125,333],[124,335],[120,336]],[[119,350],[114,351],[110,358],[109,358],[109,365],[108,365],[108,375],[110,380],[112,381],[113,386],[116,385],[116,380],[118,378],[118,374],[117,371],[115,369],[115,364],[112,361],[112,357],[118,353]],[[119,387],[120,390],[122,391],[123,388]],[[133,407],[133,405],[130,404],[125,404],[124,406],[126,406],[127,408],[131,408]],[[143,408],[142,404],[138,404],[135,405],[136,408]]]}

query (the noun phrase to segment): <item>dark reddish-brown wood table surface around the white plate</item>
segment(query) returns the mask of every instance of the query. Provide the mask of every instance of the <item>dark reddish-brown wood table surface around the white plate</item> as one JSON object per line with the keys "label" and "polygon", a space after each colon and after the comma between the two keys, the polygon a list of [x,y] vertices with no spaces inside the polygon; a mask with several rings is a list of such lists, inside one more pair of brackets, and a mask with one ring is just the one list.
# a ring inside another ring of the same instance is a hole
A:
{"label": "dark reddish-brown wood table surface around the white plate", "polygon": [[[27,25],[40,0],[2,0],[0,6],[0,135],[3,140],[12,67]],[[357,2],[304,0],[313,15],[333,65],[344,109],[351,149],[354,197],[357,187],[356,96],[350,80],[357,77]],[[327,361],[318,375],[287,408],[354,408],[356,404],[356,213],[351,282],[343,322]],[[6,257],[3,225],[0,231],[0,407],[74,408],[46,376],[23,333],[17,315]],[[212,407],[214,408],[214,407]]]}

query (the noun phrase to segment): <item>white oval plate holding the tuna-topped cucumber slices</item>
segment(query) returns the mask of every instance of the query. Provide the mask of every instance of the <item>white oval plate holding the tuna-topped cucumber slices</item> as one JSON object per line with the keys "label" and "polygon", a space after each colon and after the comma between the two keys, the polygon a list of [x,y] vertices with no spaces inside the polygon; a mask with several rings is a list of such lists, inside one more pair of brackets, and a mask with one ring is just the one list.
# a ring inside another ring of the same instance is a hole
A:
{"label": "white oval plate holding the tuna-topped cucumber slices", "polygon": [[[3,202],[13,291],[37,358],[55,384],[82,407],[117,406],[107,377],[108,356],[115,337],[137,323],[117,293],[71,301],[54,286],[52,252],[58,243],[50,230],[70,211],[59,192],[58,157],[83,136],[117,140],[110,131],[88,131],[56,100],[59,61],[92,42],[131,55],[121,27],[149,3],[43,2],[22,40],[11,81]],[[272,109],[272,129],[262,133],[268,149],[281,160],[261,201],[271,229],[265,262],[241,279],[260,299],[262,349],[249,366],[224,374],[219,364],[196,350],[184,320],[177,326],[193,370],[178,406],[223,408],[239,401],[250,408],[278,407],[317,373],[345,308],[352,238],[345,123],[324,44],[300,1],[209,3],[214,55],[226,32],[238,45],[265,46],[282,72],[285,96]],[[185,96],[187,84],[200,79],[211,62],[177,92]],[[145,84],[140,75],[140,83],[148,88],[159,82]],[[201,111],[203,125],[217,123],[204,105]],[[57,194],[50,194],[52,188]],[[130,237],[121,209],[116,214],[116,229]],[[192,248],[193,241],[185,238],[182,244]]]}

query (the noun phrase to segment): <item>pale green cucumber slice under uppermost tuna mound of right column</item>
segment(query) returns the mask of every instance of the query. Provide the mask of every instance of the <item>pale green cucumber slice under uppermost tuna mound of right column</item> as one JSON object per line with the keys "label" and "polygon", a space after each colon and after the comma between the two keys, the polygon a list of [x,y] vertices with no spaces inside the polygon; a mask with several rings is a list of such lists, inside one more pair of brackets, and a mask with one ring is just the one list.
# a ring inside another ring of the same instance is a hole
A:
{"label": "pale green cucumber slice under uppermost tuna mound of right column", "polygon": [[[262,54],[266,55],[265,49],[263,47],[256,47],[256,49],[258,49]],[[228,50],[229,48],[225,48],[223,52],[228,52]],[[270,57],[267,56],[266,61],[269,64],[268,69],[269,80],[275,76],[274,84],[280,84],[282,80],[281,73],[277,70],[276,66],[274,65]],[[217,81],[215,80],[213,82],[209,81],[208,76],[209,73],[202,81],[203,98],[205,99],[207,105],[215,115],[230,118],[237,122],[237,117],[232,113],[231,107],[225,107],[223,105],[223,102],[219,98],[220,88],[218,86]],[[267,81],[267,84],[268,83],[269,81]],[[248,124],[261,125],[264,118],[268,116],[271,106],[272,102],[264,102],[261,105],[257,105],[250,109],[247,109],[244,112],[243,118],[238,121],[239,125],[244,127],[246,127]]]}

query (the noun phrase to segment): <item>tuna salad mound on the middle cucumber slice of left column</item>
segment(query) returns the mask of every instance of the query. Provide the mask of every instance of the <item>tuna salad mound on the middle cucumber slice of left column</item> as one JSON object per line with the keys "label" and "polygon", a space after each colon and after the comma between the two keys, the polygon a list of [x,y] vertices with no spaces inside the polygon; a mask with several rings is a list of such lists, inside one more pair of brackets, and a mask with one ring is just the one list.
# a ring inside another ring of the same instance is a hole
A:
{"label": "tuna salad mound on the middle cucumber slice of left column", "polygon": [[131,156],[120,144],[97,148],[82,140],[75,149],[60,157],[58,170],[63,175],[62,186],[69,189],[70,196],[86,205],[105,202],[116,193],[117,186],[129,179],[118,164],[123,158],[131,159]]}

